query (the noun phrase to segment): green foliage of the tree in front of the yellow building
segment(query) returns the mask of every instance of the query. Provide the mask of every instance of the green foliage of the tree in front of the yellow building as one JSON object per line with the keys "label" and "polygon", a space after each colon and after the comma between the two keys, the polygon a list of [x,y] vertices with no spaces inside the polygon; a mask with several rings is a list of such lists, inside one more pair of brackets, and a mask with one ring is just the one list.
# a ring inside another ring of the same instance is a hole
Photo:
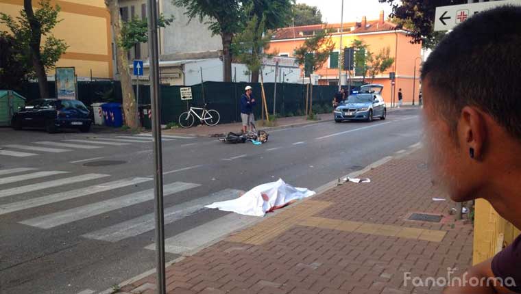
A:
{"label": "green foliage of the tree in front of the yellow building", "polygon": [[38,22],[39,31],[35,32],[31,29],[25,10],[21,10],[20,16],[16,16],[16,18],[0,12],[0,23],[10,30],[10,34],[3,34],[8,34],[8,36],[12,37],[14,51],[17,52],[16,61],[26,65],[25,69],[28,77],[34,77],[35,75],[29,44],[32,42],[40,44],[41,38],[45,38],[45,42],[40,44],[41,62],[45,70],[54,68],[60,56],[68,48],[64,40],[55,38],[51,34],[54,27],[62,21],[58,20],[60,6],[52,7],[50,0],[40,0],[38,4],[40,8],[34,12],[34,18]]}

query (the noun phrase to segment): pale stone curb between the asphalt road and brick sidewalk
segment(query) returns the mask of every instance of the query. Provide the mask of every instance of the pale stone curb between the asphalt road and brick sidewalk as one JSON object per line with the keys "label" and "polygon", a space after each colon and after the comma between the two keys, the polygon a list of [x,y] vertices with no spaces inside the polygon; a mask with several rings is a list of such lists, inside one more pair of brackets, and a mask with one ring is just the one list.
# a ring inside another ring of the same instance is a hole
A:
{"label": "pale stone curb between the asphalt road and brick sidewalk", "polygon": [[[349,174],[346,174],[345,176],[341,176],[340,178],[337,178],[336,180],[330,181],[329,183],[326,183],[320,187],[317,187],[316,189],[314,189],[314,191],[316,192],[315,195],[308,197],[302,201],[295,202],[295,203],[291,204],[291,206],[289,206],[289,208],[298,206],[299,204],[303,203],[304,201],[306,201],[308,199],[315,198],[315,197],[321,195],[322,193],[328,191],[329,189],[332,189],[339,185],[343,185],[343,183],[346,183],[346,181],[344,181],[343,179],[348,176],[351,178],[360,176],[361,174],[365,174],[366,172],[369,172],[370,170],[378,168],[380,165],[384,165],[385,163],[387,163],[393,159],[402,159],[403,157],[407,157],[407,155],[410,155],[411,153],[413,153],[417,150],[420,150],[420,148],[422,148],[422,143],[417,142],[416,144],[413,144],[407,148],[404,148],[402,150],[399,150],[398,152],[395,152],[395,154],[392,156],[386,156],[386,157],[383,157],[382,159],[378,159],[377,161],[370,163],[369,165],[367,165],[365,168],[363,168],[361,170],[357,170],[355,172],[350,172]],[[280,213],[282,211],[284,211],[284,210],[280,209],[280,210],[274,211],[273,213],[270,213],[270,215],[268,217],[277,215],[278,213]],[[267,219],[267,217],[259,217],[258,221],[253,222],[252,224],[249,224],[248,226],[244,226],[243,228],[240,228],[239,230],[245,230],[246,228],[250,228],[251,226],[258,224],[259,222],[262,222],[265,219]],[[239,230],[236,230],[235,232],[237,232]],[[232,234],[232,233],[230,233],[230,234]],[[217,238],[217,239],[214,239],[213,241],[202,244],[201,246],[194,248],[193,250],[190,250],[189,252],[185,252],[185,253],[181,254],[178,258],[175,258],[175,259],[165,263],[165,267],[169,267],[170,265],[173,265],[174,263],[178,263],[179,261],[183,260],[184,258],[191,256],[193,254],[196,254],[197,252],[203,250],[204,248],[208,248],[209,246],[211,246],[219,241],[222,241],[223,239],[226,239],[228,236],[230,236],[230,234]],[[123,286],[127,286],[128,284],[132,284],[133,282],[141,280],[141,279],[151,275],[152,273],[156,273],[156,269],[150,269],[148,271],[145,271],[144,273],[141,273],[138,276],[134,276],[133,278],[130,278],[128,280],[125,280],[124,282],[119,283],[118,286],[120,288],[122,288]],[[113,293],[113,289],[107,289],[105,291],[99,292],[98,294],[111,294],[111,293]]]}

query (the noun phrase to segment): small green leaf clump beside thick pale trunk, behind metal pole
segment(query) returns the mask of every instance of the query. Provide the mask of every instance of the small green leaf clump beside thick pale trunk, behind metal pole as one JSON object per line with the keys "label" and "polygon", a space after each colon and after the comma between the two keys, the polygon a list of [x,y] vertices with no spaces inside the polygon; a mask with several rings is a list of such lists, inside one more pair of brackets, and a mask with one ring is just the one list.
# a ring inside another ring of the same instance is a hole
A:
{"label": "small green leaf clump beside thick pale trunk, behind metal pole", "polygon": [[[158,17],[158,27],[166,27],[173,21],[173,16],[165,18],[163,14]],[[119,46],[125,50],[132,49],[135,44],[148,42],[148,21],[146,18],[132,18],[123,23]]]}

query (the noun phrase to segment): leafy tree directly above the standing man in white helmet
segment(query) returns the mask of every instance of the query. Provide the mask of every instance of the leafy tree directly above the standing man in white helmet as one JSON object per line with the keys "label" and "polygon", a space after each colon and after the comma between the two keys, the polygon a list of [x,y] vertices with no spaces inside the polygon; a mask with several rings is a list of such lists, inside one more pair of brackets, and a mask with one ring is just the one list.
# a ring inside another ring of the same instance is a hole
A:
{"label": "leafy tree directly above the standing man in white helmet", "polygon": [[258,72],[263,57],[276,54],[265,54],[273,36],[271,29],[288,24],[292,3],[293,0],[249,0],[243,5],[249,21],[241,34],[235,36],[232,55],[239,62],[246,64],[252,74],[252,83],[258,83]]}

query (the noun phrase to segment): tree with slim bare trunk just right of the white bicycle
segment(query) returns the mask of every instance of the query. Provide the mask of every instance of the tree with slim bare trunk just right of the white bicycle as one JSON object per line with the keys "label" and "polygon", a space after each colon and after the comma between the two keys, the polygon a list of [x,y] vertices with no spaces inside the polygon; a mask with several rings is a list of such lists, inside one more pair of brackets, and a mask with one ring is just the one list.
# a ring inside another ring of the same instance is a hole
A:
{"label": "tree with slim bare trunk just right of the white bicycle", "polygon": [[223,44],[224,81],[232,81],[232,45],[234,34],[240,31],[243,23],[242,3],[239,0],[172,0],[178,7],[186,8],[190,21],[204,18],[213,35],[221,36]]}

